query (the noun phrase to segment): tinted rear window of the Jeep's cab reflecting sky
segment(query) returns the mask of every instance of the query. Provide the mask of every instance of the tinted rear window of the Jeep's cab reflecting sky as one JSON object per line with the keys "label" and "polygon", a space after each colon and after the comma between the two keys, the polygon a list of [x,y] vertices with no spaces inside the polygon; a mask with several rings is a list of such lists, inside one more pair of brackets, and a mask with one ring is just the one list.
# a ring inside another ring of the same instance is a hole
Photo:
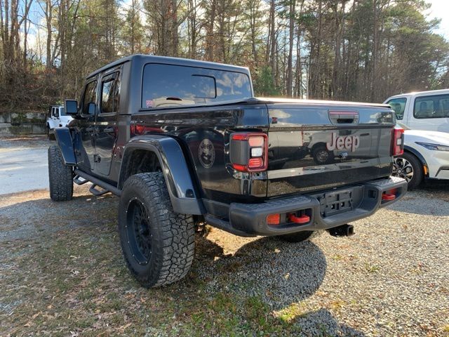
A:
{"label": "tinted rear window of the Jeep's cab reflecting sky", "polygon": [[143,70],[142,108],[218,103],[251,97],[247,74],[149,63]]}

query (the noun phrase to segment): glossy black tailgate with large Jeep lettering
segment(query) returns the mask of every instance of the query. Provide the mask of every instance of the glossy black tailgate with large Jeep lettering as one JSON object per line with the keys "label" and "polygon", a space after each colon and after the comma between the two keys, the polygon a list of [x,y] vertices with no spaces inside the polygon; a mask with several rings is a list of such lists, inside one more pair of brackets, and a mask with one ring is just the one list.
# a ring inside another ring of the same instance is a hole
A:
{"label": "glossy black tailgate with large Jeep lettering", "polygon": [[391,174],[394,115],[385,105],[267,103],[268,197]]}

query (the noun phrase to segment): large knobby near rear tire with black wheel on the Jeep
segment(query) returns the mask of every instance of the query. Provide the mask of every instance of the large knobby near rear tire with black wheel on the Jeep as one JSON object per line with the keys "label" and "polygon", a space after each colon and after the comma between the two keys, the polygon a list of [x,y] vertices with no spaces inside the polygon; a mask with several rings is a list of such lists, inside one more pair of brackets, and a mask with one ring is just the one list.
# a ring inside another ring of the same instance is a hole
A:
{"label": "large knobby near rear tire with black wheel on the Jeep", "polygon": [[119,202],[119,235],[126,264],[142,286],[170,284],[189,272],[194,220],[173,211],[161,172],[126,180]]}

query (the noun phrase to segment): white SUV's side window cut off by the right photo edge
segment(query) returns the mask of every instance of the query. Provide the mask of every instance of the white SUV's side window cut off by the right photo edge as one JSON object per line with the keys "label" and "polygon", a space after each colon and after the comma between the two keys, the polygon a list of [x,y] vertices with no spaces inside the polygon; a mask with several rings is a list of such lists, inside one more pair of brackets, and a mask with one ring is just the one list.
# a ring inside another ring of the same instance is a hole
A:
{"label": "white SUV's side window cut off by the right photo edge", "polygon": [[415,118],[449,118],[449,94],[415,98]]}

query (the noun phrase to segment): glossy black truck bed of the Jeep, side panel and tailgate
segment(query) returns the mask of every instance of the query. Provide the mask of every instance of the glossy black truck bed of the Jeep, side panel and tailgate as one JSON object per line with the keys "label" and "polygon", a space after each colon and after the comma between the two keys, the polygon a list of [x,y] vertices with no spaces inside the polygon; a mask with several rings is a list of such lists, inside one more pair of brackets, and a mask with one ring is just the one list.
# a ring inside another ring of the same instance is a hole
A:
{"label": "glossy black truck bed of the Jeep, side panel and tailgate", "polygon": [[[147,126],[147,133],[180,140],[206,203],[208,199],[255,202],[391,174],[394,115],[388,105],[248,98],[220,104],[142,109],[133,114],[132,120]],[[266,172],[235,173],[229,167],[229,135],[237,131],[267,133]],[[336,142],[346,141],[348,146],[328,150],[332,158],[326,162],[317,160],[316,149],[326,149],[333,137]],[[208,167],[200,159],[204,139],[213,145],[213,164]],[[351,141],[357,143],[349,146]]]}

